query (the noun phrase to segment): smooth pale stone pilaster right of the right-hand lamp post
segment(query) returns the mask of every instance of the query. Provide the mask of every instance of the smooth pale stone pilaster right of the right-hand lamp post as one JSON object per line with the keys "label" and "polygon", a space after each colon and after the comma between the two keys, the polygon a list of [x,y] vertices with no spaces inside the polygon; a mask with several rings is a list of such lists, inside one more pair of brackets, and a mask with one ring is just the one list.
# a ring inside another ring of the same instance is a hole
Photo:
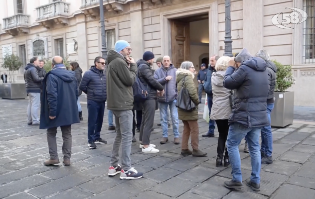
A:
{"label": "smooth pale stone pilaster right of the right-hand lamp post", "polygon": [[264,47],[263,9],[263,0],[243,0],[243,47],[252,56]]}

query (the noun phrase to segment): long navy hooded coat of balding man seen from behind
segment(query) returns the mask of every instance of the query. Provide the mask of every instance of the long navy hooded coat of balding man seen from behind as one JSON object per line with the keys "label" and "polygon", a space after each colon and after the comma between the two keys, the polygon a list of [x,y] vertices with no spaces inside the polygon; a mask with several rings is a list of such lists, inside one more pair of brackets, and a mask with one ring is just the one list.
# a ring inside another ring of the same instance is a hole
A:
{"label": "long navy hooded coat of balding man seen from behind", "polygon": [[[63,66],[56,65],[43,80],[40,129],[80,123],[77,105],[79,91],[75,73]],[[56,118],[50,119],[49,116]]]}

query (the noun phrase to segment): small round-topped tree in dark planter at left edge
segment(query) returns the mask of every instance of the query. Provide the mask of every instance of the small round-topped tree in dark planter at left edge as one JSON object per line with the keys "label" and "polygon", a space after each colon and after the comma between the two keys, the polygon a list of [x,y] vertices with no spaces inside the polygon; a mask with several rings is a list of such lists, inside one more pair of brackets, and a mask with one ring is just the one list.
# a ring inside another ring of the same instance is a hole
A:
{"label": "small round-topped tree in dark planter at left edge", "polygon": [[1,84],[0,98],[3,99],[24,99],[26,98],[25,84],[15,83],[15,72],[18,71],[23,63],[14,54],[6,55],[3,59],[2,67],[8,70],[9,83]]}

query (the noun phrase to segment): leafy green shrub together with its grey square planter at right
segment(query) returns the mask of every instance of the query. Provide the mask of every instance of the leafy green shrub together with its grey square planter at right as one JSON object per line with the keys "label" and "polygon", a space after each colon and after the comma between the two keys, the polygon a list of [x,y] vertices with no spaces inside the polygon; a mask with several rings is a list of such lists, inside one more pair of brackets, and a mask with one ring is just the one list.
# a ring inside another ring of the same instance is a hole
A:
{"label": "leafy green shrub together with its grey square planter at right", "polygon": [[287,91],[295,84],[292,66],[282,65],[273,60],[277,67],[275,88],[275,107],[271,112],[271,126],[285,127],[293,123],[294,92]]}

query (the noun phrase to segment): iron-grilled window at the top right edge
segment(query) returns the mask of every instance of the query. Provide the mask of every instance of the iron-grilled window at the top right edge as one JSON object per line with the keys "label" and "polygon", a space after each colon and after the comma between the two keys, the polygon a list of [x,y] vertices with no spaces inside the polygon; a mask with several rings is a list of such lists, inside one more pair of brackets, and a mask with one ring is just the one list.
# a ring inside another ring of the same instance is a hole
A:
{"label": "iron-grilled window at the top right edge", "polygon": [[315,63],[315,0],[305,0],[304,10],[308,13],[308,17],[303,29],[303,62],[305,64],[313,64]]}

